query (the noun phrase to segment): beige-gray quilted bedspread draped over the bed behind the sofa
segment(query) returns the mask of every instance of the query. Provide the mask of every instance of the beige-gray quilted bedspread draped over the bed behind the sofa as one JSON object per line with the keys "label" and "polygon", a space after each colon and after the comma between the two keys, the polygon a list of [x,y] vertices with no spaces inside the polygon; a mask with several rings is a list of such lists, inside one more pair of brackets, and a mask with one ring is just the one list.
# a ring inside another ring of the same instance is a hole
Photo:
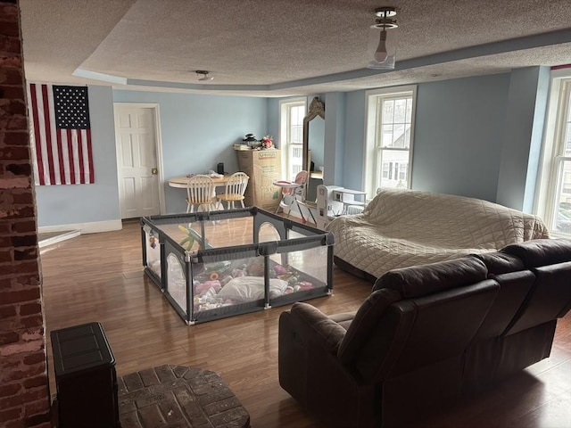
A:
{"label": "beige-gray quilted bedspread draped over the bed behind the sofa", "polygon": [[549,237],[542,219],[450,194],[382,190],[362,214],[335,218],[335,256],[373,276]]}

